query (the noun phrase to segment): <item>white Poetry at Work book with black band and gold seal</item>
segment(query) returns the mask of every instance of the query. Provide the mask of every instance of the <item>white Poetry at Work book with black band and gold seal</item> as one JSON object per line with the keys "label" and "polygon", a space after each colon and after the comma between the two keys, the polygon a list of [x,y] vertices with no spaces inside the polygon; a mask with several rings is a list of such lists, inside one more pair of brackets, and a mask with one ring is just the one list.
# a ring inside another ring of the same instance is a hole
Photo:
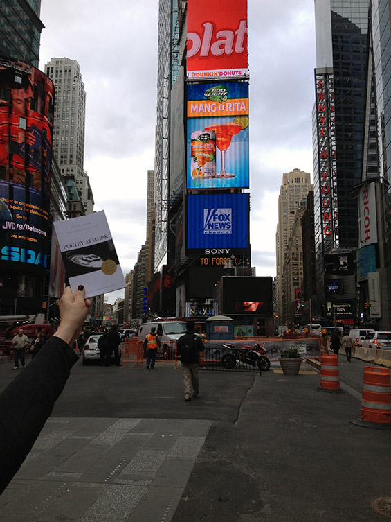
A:
{"label": "white Poetry at Work book with black band and gold seal", "polygon": [[72,291],[86,297],[125,288],[125,278],[104,211],[53,223]]}

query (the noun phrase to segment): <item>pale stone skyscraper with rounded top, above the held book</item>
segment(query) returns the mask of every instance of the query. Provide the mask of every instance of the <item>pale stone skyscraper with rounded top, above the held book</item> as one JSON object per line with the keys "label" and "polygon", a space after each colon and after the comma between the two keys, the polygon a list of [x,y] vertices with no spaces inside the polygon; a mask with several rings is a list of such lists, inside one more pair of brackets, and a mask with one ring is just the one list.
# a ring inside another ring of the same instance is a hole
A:
{"label": "pale stone skyscraper with rounded top, above the held book", "polygon": [[45,72],[55,85],[53,155],[62,176],[74,178],[84,214],[93,211],[93,193],[84,171],[86,93],[80,65],[70,58],[52,58]]}

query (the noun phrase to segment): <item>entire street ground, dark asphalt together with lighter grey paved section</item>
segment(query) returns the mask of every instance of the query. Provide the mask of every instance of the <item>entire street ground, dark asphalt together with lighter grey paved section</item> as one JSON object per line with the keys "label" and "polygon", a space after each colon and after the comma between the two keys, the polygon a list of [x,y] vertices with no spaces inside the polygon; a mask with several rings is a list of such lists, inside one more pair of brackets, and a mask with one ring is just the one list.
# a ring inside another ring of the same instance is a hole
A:
{"label": "entire street ground, dark asphalt together with lighter grey paved section", "polygon": [[[174,363],[80,361],[0,520],[385,521],[391,432],[350,423],[365,365],[340,357],[340,394],[319,392],[307,364],[298,376],[278,363],[262,376],[202,371],[185,403]],[[15,373],[0,365],[1,389]]]}

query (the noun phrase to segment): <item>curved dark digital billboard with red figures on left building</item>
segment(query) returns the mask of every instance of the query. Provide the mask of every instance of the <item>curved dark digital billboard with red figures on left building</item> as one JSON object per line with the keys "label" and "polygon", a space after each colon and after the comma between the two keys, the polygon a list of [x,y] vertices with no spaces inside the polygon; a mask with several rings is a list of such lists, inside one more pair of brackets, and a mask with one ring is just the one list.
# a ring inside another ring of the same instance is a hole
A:
{"label": "curved dark digital billboard with red figures on left building", "polygon": [[38,69],[0,60],[0,261],[46,266],[54,87]]}

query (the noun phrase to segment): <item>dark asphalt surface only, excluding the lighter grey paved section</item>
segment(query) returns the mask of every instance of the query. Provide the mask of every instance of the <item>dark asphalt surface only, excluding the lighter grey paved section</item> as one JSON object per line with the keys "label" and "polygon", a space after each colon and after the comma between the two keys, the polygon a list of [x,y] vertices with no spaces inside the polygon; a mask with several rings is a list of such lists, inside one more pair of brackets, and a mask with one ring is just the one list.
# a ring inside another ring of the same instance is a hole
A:
{"label": "dark asphalt surface only, excluding the lighter grey paved section", "polygon": [[[319,392],[308,365],[298,376],[278,364],[262,376],[202,371],[200,397],[186,403],[174,363],[146,371],[80,361],[52,417],[212,421],[174,522],[384,522],[391,431],[350,422],[360,417],[367,365],[340,357],[341,394]],[[15,373],[0,365],[0,389]]]}

